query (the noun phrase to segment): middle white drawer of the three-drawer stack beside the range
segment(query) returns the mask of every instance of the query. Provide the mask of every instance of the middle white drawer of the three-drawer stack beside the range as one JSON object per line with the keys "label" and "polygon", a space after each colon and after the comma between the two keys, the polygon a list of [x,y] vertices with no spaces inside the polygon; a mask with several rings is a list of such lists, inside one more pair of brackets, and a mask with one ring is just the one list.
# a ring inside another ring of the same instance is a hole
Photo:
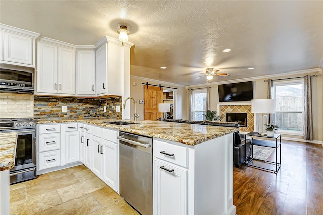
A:
{"label": "middle white drawer of the three-drawer stack beside the range", "polygon": [[48,150],[58,150],[58,149],[61,149],[60,133],[39,135],[39,152],[44,152]]}

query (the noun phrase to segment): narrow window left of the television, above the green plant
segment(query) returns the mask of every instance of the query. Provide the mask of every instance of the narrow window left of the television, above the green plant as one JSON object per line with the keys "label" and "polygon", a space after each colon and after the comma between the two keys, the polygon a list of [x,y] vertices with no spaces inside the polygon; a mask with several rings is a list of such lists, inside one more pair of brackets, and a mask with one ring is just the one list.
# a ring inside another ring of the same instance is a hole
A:
{"label": "narrow window left of the television, above the green plant", "polygon": [[206,112],[206,89],[193,91],[193,120],[205,120]]}

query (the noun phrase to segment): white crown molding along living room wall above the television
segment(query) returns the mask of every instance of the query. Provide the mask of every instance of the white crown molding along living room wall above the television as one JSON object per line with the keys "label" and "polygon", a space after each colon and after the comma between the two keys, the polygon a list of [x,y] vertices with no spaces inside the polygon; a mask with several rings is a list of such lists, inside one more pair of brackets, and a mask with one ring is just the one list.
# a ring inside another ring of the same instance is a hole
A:
{"label": "white crown molding along living room wall above the television", "polygon": [[186,89],[195,88],[195,87],[206,87],[206,86],[210,86],[213,84],[216,84],[216,85],[229,84],[229,83],[234,83],[234,82],[254,81],[255,79],[269,79],[269,78],[273,78],[273,77],[304,75],[304,74],[309,74],[309,73],[319,73],[320,75],[323,75],[323,70],[321,68],[311,68],[311,69],[304,69],[304,70],[298,70],[298,71],[290,71],[287,73],[277,73],[277,74],[255,76],[255,77],[249,77],[249,78],[243,78],[243,79],[232,79],[232,80],[221,81],[221,82],[204,83],[204,84],[199,84],[199,85],[189,85],[189,86],[186,86]]}

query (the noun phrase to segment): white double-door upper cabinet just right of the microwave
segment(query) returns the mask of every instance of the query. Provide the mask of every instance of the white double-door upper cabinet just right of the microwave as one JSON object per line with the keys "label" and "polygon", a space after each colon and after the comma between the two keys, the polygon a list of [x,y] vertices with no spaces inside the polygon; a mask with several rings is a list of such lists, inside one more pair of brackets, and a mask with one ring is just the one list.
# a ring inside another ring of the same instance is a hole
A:
{"label": "white double-door upper cabinet just right of the microwave", "polygon": [[75,49],[37,43],[37,93],[75,94]]}

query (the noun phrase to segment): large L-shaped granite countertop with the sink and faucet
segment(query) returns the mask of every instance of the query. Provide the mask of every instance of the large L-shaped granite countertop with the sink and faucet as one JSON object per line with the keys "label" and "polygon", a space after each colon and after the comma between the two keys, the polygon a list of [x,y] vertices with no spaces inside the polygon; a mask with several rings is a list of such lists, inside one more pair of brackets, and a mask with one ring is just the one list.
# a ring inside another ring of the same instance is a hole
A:
{"label": "large L-shaped granite countertop with the sink and faucet", "polygon": [[45,123],[65,123],[81,122],[98,125],[106,128],[117,129],[134,134],[140,134],[149,137],[166,139],[174,142],[181,142],[187,145],[197,145],[210,139],[224,136],[229,133],[239,131],[235,127],[222,127],[198,124],[186,124],[177,122],[160,122],[160,121],[139,121],[132,125],[113,125],[104,123],[104,121],[128,121],[113,119],[39,119],[37,124]]}

